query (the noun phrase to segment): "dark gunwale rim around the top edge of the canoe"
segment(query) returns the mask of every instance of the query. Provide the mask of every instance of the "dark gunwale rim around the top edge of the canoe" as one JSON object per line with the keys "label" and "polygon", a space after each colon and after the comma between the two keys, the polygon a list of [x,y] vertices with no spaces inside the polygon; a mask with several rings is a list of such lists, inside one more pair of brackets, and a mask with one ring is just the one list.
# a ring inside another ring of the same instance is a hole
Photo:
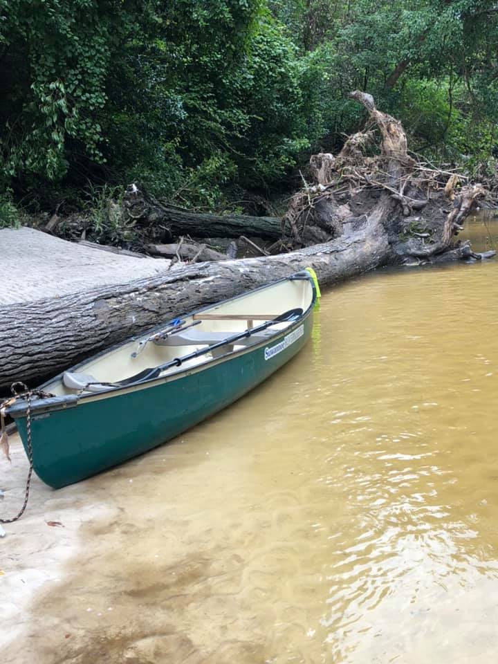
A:
{"label": "dark gunwale rim around the top edge of the canoe", "polygon": [[[197,365],[196,367],[182,368],[180,365],[178,367],[178,371],[172,371],[165,376],[158,376],[156,378],[151,378],[149,380],[137,382],[129,386],[106,387],[106,389],[102,389],[102,391],[89,392],[87,394],[68,394],[64,396],[54,396],[45,399],[32,400],[30,404],[31,413],[33,415],[39,415],[48,412],[55,412],[57,410],[76,407],[77,405],[83,403],[90,403],[91,401],[95,400],[114,398],[122,394],[126,394],[130,391],[141,391],[144,389],[156,387],[158,385],[163,385],[166,382],[174,382],[176,380],[180,380],[184,376],[190,376],[192,374],[198,373],[199,371],[204,371],[205,369],[208,369],[209,367],[212,367],[214,365],[218,365],[223,362],[228,362],[232,358],[238,358],[240,356],[245,355],[246,353],[252,353],[257,349],[260,349],[261,347],[267,346],[268,344],[275,342],[275,340],[277,340],[279,337],[284,338],[286,335],[291,334],[295,329],[297,329],[299,325],[302,325],[313,311],[317,294],[316,294],[315,284],[313,282],[313,278],[311,277],[311,275],[309,275],[309,273],[307,273],[306,271],[295,273],[294,275],[278,279],[276,282],[273,282],[271,284],[266,284],[264,286],[259,286],[259,288],[255,288],[253,291],[250,291],[251,293],[256,293],[257,291],[264,291],[268,288],[272,288],[273,286],[277,286],[277,284],[281,284],[282,282],[297,281],[298,279],[303,279],[303,280],[306,279],[311,284],[311,288],[313,290],[311,304],[308,306],[308,308],[305,311],[303,311],[301,315],[299,315],[299,317],[293,320],[291,324],[289,324],[285,329],[275,330],[275,333],[268,336],[268,338],[241,349],[227,351],[221,356],[218,356],[216,358],[210,358],[205,362],[201,362],[201,364]],[[215,304],[224,304],[226,302],[233,302],[234,300],[245,297],[247,294],[248,293],[241,293],[241,295],[230,297],[225,300],[220,300]],[[203,311],[212,308],[212,306],[213,304],[203,306],[199,309],[196,309],[194,311],[185,314],[185,316],[196,315],[198,313],[201,313]],[[172,318],[172,320],[174,320],[174,318]],[[104,349],[103,351],[100,351],[100,353],[96,353],[94,356],[92,356],[91,359],[95,360],[102,356],[105,356],[107,353],[115,351],[118,348],[124,346],[125,344],[128,344],[133,340],[142,338],[142,336],[146,334],[154,334],[156,331],[160,331],[161,329],[163,329],[164,326],[167,324],[168,324],[167,321],[162,321],[157,326],[154,326],[154,328],[148,329],[142,334],[133,335],[132,337],[129,337],[121,342],[118,342],[117,344],[114,344],[113,346],[107,349]],[[66,369],[66,371],[77,371],[77,369],[80,369],[80,367],[86,365],[87,362],[89,362],[89,358],[83,360],[82,362],[79,362],[77,365],[74,365],[70,369]],[[62,379],[63,374],[64,371],[62,371],[60,374],[57,374],[57,376],[50,378],[50,380],[44,382],[44,384],[41,385],[39,389],[46,389],[49,385],[52,385],[55,380]],[[28,403],[25,399],[18,400],[17,402],[12,404],[12,406],[6,409],[6,414],[8,414],[14,419],[22,418],[26,416],[27,408],[28,408]]]}

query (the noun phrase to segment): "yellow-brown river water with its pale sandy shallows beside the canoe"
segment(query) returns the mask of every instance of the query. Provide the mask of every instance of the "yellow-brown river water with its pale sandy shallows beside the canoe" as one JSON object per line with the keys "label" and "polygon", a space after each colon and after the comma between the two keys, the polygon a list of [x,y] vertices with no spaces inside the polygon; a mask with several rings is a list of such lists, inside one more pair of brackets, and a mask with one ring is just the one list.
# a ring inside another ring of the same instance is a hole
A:
{"label": "yellow-brown river water with its pale sandy shallows beside the canoe", "polygon": [[495,661],[497,302],[496,260],[355,279],[239,403],[77,486],[35,481],[0,540],[3,663]]}

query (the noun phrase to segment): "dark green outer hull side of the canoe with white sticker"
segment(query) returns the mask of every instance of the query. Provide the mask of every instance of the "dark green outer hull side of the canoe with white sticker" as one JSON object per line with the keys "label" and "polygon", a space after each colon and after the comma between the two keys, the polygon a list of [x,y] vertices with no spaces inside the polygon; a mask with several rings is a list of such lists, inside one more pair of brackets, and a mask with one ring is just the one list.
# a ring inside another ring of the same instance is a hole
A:
{"label": "dark green outer hull side of the canoe with white sticker", "polygon": [[[302,349],[312,313],[268,345],[219,358],[182,373],[73,407],[33,414],[33,467],[60,488],[156,448],[256,387]],[[17,418],[26,449],[26,417]]]}

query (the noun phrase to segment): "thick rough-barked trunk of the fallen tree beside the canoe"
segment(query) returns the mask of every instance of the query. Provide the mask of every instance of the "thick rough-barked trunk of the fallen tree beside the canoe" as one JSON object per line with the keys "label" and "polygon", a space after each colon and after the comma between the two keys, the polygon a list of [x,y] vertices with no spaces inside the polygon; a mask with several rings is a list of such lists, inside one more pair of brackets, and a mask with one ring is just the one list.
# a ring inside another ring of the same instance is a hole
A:
{"label": "thick rough-barked trunk of the fallen tree beside the canoe", "polygon": [[349,237],[271,257],[189,265],[122,286],[0,307],[0,386],[30,387],[160,320],[312,266],[324,285],[373,270],[387,234],[368,224]]}

